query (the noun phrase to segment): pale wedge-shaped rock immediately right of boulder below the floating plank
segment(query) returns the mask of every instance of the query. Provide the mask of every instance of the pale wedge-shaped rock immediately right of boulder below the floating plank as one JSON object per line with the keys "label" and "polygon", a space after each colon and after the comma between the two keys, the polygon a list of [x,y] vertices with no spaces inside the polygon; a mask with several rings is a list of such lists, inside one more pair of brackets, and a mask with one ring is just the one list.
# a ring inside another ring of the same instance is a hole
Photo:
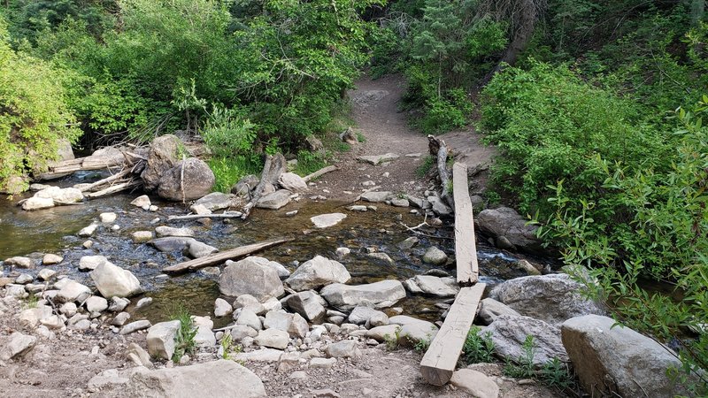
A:
{"label": "pale wedge-shaped rock immediately right of boulder below the floating plank", "polygon": [[285,280],[285,283],[300,292],[331,283],[346,283],[349,279],[351,279],[351,275],[344,265],[323,256],[315,256],[312,260],[297,267],[295,272]]}

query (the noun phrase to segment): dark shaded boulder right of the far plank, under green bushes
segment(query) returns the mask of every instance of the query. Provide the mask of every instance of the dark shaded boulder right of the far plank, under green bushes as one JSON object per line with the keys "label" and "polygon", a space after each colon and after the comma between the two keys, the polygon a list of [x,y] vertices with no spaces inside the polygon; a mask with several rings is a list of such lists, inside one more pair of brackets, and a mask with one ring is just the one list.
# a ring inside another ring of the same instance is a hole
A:
{"label": "dark shaded boulder right of the far plank, under green bushes", "polygon": [[[512,247],[508,249],[531,252],[540,252],[543,249],[541,241],[536,238],[538,227],[527,225],[527,219],[512,208],[481,210],[474,222],[482,233],[496,238],[497,246],[508,246],[511,243]],[[500,241],[504,241],[504,244],[500,245]]]}

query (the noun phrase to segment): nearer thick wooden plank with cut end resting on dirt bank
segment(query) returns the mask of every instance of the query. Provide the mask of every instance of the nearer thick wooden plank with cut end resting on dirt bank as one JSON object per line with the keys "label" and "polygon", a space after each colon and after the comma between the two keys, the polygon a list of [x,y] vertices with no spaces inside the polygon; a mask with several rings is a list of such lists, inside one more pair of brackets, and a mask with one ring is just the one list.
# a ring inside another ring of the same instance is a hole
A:
{"label": "nearer thick wooden plank with cut end resting on dirt bank", "polygon": [[435,334],[435,339],[420,361],[420,374],[428,384],[443,386],[450,381],[477,314],[484,287],[483,283],[462,287],[450,306],[443,327]]}

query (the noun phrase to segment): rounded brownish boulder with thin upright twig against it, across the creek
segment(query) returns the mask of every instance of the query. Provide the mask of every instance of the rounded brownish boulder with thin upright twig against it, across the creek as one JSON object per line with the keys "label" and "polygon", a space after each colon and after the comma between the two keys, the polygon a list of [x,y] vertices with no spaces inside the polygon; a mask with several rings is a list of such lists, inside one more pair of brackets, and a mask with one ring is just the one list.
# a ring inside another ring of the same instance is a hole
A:
{"label": "rounded brownish boulder with thin upright twig against it, across the creek", "polygon": [[171,201],[193,201],[212,192],[215,181],[209,165],[189,157],[160,177],[158,195]]}

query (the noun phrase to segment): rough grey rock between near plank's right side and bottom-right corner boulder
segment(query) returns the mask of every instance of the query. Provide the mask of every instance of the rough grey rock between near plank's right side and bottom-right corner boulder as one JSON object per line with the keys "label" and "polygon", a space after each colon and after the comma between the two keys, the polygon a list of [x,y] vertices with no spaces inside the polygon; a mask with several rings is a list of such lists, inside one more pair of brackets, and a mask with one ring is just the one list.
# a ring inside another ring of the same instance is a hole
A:
{"label": "rough grey rock between near plank's right side and bottom-right corner boulder", "polygon": [[560,341],[560,329],[547,324],[543,320],[529,317],[502,315],[496,318],[484,332],[491,333],[496,355],[515,360],[523,355],[521,347],[527,335],[534,336],[534,364],[542,365],[554,357],[567,361],[566,348]]}

